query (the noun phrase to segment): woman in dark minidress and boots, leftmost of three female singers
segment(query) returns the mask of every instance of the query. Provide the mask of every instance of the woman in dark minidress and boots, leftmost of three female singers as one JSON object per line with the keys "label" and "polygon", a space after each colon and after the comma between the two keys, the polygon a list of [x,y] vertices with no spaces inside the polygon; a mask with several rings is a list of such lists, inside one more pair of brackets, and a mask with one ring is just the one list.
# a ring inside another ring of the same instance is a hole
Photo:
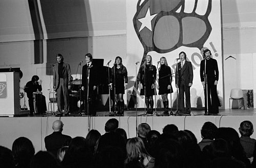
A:
{"label": "woman in dark minidress and boots, leftmost of three female singers", "polygon": [[123,115],[124,112],[123,94],[127,82],[127,69],[122,64],[122,58],[118,56],[116,57],[115,65],[111,68],[111,89],[113,89],[112,83],[115,83],[115,100],[117,100],[118,115]]}

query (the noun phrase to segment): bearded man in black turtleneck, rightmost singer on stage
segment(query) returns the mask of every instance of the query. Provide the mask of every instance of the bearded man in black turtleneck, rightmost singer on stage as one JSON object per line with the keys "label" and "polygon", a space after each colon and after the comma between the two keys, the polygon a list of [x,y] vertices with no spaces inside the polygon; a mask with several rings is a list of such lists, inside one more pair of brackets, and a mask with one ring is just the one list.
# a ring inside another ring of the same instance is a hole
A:
{"label": "bearded man in black turtleneck, rightmost singer on stage", "polygon": [[[204,97],[205,97],[205,113],[207,113],[207,99],[206,99],[206,86],[204,75],[207,76],[207,92],[208,92],[208,112],[219,113],[220,101],[217,94],[217,84],[219,80],[219,69],[216,59],[211,58],[210,50],[206,49],[203,51],[205,57],[200,64],[200,77],[202,85],[204,86]],[[206,72],[205,72],[206,63]],[[211,97],[211,99],[210,99]]]}

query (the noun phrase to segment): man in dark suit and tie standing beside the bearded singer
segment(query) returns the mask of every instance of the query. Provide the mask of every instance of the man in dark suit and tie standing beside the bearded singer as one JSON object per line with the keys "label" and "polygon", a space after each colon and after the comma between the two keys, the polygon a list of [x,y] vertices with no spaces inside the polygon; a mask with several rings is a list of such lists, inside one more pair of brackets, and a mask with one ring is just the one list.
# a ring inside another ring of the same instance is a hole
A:
{"label": "man in dark suit and tie standing beside the bearded singer", "polygon": [[[175,86],[179,88],[180,93],[180,112],[190,114],[190,87],[193,84],[193,68],[191,62],[186,60],[186,57],[185,52],[180,52],[180,62],[176,67],[176,73],[178,74],[175,76]],[[184,104],[184,92],[186,97],[186,109]]]}

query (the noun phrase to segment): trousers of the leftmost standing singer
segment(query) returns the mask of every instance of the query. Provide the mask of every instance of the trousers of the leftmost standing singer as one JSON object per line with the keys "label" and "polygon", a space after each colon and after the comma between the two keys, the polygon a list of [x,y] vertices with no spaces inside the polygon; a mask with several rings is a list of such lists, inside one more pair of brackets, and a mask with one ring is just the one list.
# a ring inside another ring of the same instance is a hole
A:
{"label": "trousers of the leftmost standing singer", "polygon": [[59,113],[62,114],[63,105],[65,113],[69,113],[69,89],[68,86],[64,84],[63,78],[59,79],[59,87],[57,89],[57,104]]}

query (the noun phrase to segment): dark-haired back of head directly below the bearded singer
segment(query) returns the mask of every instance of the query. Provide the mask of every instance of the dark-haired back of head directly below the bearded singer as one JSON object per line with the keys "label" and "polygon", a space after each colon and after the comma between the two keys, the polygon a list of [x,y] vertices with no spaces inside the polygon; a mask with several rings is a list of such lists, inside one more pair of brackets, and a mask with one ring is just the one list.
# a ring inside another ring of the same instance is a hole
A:
{"label": "dark-haired back of head directly below the bearded singer", "polygon": [[205,122],[201,129],[201,135],[204,139],[214,139],[217,130],[218,127],[214,123]]}

